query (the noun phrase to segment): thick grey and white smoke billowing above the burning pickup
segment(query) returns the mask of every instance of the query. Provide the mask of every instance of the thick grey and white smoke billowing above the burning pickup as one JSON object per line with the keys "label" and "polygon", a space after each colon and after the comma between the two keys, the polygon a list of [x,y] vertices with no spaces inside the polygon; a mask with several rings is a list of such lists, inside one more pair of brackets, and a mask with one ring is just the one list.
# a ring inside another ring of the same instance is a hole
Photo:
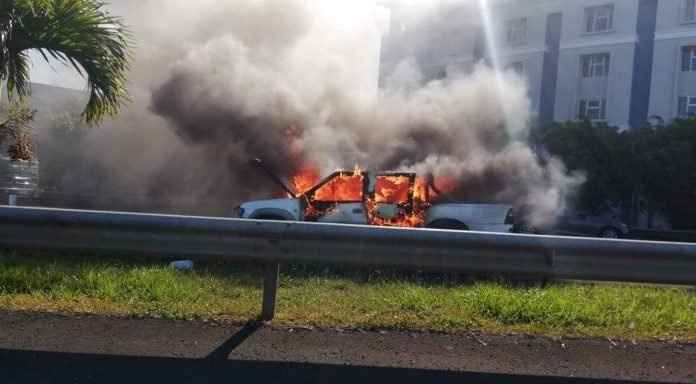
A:
{"label": "thick grey and white smoke billowing above the burning pickup", "polygon": [[[437,4],[425,3],[428,10]],[[551,214],[582,181],[558,161],[540,163],[524,144],[530,102],[513,73],[479,65],[424,82],[404,60],[378,89],[388,13],[374,0],[120,0],[110,7],[136,34],[134,103],[74,140],[88,170],[75,176],[63,161],[57,183],[64,189],[224,201],[226,208],[271,193],[247,165],[262,157],[286,176],[356,164],[432,173],[457,197],[533,202]]]}

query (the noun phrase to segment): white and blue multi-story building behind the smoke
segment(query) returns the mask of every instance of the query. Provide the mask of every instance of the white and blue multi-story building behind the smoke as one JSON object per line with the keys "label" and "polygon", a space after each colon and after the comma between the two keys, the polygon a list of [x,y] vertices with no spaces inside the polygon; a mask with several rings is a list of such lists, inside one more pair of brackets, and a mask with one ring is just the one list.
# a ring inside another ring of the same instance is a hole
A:
{"label": "white and blue multi-story building behind the smoke", "polygon": [[404,19],[394,13],[383,73],[406,57],[428,79],[481,61],[514,69],[541,123],[696,113],[696,0],[465,1],[411,29]]}

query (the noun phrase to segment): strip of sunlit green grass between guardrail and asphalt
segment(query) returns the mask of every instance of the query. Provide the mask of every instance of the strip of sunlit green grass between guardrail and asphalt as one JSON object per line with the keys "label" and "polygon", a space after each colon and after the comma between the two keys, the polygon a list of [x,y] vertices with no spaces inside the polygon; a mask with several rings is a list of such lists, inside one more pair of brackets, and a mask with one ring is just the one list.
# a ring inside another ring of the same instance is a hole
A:
{"label": "strip of sunlit green grass between guardrail and asphalt", "polygon": [[[165,261],[4,252],[0,308],[242,323],[260,312],[262,276],[248,265],[182,272]],[[285,267],[273,323],[694,341],[696,292]]]}

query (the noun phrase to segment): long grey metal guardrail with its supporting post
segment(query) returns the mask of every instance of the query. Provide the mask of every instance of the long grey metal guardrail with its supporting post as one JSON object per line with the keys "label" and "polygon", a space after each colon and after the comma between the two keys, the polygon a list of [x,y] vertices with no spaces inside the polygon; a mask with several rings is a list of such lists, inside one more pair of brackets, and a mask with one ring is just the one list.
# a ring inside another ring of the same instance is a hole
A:
{"label": "long grey metal guardrail with its supporting post", "polygon": [[0,247],[696,285],[696,244],[0,207]]}

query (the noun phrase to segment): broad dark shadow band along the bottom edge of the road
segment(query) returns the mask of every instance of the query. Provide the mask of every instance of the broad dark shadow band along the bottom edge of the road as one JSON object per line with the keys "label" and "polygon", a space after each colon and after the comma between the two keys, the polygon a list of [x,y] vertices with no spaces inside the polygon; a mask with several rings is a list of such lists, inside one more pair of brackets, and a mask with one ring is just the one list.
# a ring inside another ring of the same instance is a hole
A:
{"label": "broad dark shadow band along the bottom edge of the road", "polygon": [[[217,357],[221,355],[216,355]],[[0,349],[3,383],[536,383],[645,384],[596,380],[219,358],[109,356]]]}

